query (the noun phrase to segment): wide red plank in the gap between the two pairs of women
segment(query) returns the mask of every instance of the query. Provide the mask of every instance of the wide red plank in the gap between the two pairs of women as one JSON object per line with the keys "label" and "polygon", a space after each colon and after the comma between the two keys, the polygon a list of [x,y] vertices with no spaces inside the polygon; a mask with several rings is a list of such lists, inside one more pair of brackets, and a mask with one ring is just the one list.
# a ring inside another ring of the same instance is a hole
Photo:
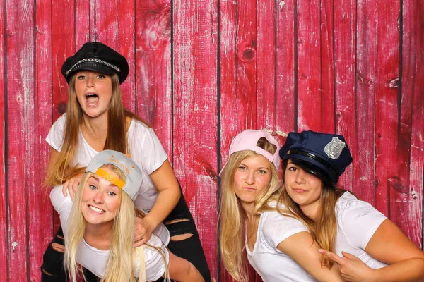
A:
{"label": "wide red plank in the gap between the two pairs of women", "polygon": [[173,5],[174,170],[216,276],[217,1]]}

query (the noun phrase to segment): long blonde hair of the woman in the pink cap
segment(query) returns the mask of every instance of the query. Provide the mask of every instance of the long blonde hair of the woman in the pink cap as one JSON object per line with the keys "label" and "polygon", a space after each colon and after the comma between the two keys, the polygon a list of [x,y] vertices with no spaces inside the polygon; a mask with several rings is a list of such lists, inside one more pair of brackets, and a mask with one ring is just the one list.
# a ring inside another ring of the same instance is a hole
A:
{"label": "long blonde hair of the woman in the pink cap", "polygon": [[[274,154],[276,146],[272,145],[266,138],[261,137],[257,146]],[[254,202],[252,215],[247,215],[242,208],[234,190],[234,175],[240,163],[257,155],[256,152],[245,150],[231,154],[225,168],[223,169],[220,195],[220,252],[225,269],[235,281],[247,282],[247,256],[245,250],[245,228],[247,216],[258,216],[264,210],[269,209],[266,203],[279,193],[280,181],[278,171],[271,162],[271,180],[264,194],[260,195]]]}

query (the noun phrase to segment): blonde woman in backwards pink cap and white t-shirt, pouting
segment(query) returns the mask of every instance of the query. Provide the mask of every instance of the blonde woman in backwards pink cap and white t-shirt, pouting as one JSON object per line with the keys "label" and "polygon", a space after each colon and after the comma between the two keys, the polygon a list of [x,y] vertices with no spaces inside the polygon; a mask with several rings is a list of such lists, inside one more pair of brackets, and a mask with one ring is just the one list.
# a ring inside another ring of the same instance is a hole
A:
{"label": "blonde woman in backwards pink cap and white t-shirt, pouting", "polygon": [[278,149],[278,142],[260,130],[245,130],[232,141],[230,159],[220,173],[225,268],[241,282],[249,281],[247,260],[264,282],[342,281],[336,268],[321,267],[322,255],[307,228],[285,216],[285,207],[276,203],[281,187]]}

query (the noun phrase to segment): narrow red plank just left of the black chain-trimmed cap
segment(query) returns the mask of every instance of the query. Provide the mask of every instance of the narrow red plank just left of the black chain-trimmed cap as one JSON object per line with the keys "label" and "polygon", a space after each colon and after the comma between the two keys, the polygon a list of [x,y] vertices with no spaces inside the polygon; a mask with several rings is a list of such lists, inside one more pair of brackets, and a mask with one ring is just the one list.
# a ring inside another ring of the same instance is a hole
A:
{"label": "narrow red plank just left of the black chain-trimmed cap", "polygon": [[[30,277],[40,277],[42,256],[53,233],[52,204],[42,188],[49,161],[49,146],[44,137],[52,120],[52,1],[35,2],[35,103],[34,103],[34,147],[33,158],[37,164],[30,181],[35,186],[28,188],[28,210],[30,211],[29,259]],[[32,116],[28,116],[32,118]]]}

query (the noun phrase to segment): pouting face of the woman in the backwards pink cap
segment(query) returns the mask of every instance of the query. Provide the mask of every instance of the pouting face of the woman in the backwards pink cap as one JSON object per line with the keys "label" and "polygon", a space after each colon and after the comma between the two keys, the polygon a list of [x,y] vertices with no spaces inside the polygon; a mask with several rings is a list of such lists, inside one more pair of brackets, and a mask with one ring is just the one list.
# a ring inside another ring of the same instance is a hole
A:
{"label": "pouting face of the woman in the backwards pink cap", "polygon": [[255,200],[266,192],[271,176],[271,163],[264,156],[254,154],[240,162],[233,187],[246,212],[252,212]]}

